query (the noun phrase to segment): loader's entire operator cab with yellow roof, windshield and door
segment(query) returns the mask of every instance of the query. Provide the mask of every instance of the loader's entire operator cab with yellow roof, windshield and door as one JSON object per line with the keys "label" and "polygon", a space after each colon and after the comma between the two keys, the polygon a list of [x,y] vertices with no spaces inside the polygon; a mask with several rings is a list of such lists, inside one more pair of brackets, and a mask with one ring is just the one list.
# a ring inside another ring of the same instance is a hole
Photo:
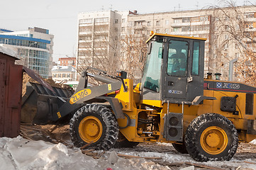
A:
{"label": "loader's entire operator cab with yellow roof, windshield and door", "polygon": [[205,40],[154,33],[147,41],[141,99],[191,104],[204,96]]}

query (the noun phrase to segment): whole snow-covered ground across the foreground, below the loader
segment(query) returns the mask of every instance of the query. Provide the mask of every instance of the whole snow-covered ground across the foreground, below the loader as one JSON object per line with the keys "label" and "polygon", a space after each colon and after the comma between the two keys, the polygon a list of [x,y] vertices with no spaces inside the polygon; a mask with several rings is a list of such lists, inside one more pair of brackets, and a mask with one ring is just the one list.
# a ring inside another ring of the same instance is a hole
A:
{"label": "whole snow-covered ground across the foreground, below the loader", "polygon": [[[255,143],[255,141],[253,142]],[[161,147],[169,144],[160,144]],[[102,152],[102,151],[98,151]],[[140,157],[160,157],[161,161],[154,162],[150,159],[133,158],[125,159],[118,154],[129,154]],[[136,149],[111,149],[102,154],[99,159],[94,159],[82,154],[79,149],[67,149],[61,143],[54,145],[50,142],[32,141],[23,137],[0,138],[0,169],[173,169],[170,164],[189,162],[191,164],[203,164],[222,169],[256,169],[256,159],[251,157],[236,159],[229,162],[195,162],[188,154],[174,152],[142,152]],[[238,157],[239,158],[239,157]],[[250,163],[247,163],[250,162]],[[252,164],[255,163],[255,164]],[[169,164],[169,165],[168,165]],[[188,165],[187,165],[188,166]],[[184,167],[187,167],[184,166]],[[184,168],[183,167],[183,168]],[[177,167],[176,169],[180,169]],[[190,169],[199,169],[190,166]],[[175,168],[174,168],[175,169]]]}

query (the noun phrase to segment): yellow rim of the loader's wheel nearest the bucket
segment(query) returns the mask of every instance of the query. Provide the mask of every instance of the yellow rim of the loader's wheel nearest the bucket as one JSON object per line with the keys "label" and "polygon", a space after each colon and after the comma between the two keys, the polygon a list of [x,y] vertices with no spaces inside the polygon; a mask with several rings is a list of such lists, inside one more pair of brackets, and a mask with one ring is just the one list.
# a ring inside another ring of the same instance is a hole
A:
{"label": "yellow rim of the loader's wheel nearest the bucket", "polygon": [[102,130],[101,121],[92,115],[83,118],[79,123],[79,135],[87,143],[99,140]]}

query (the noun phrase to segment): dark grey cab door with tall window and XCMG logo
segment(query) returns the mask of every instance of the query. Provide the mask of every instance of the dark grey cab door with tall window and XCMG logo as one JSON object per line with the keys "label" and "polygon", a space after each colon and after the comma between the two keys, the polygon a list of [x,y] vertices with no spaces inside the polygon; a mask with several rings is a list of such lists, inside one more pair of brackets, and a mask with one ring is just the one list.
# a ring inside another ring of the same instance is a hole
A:
{"label": "dark grey cab door with tall window and XCMG logo", "polygon": [[163,66],[163,98],[187,98],[187,63],[189,41],[170,39],[166,45]]}

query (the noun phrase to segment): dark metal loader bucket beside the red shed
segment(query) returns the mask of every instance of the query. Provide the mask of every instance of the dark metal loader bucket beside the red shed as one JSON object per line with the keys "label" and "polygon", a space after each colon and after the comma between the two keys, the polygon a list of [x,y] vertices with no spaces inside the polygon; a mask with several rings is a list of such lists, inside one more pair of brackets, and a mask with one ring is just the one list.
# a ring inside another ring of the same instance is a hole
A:
{"label": "dark metal loader bucket beside the red shed", "polygon": [[69,100],[74,91],[52,86],[52,90],[42,84],[28,82],[26,94],[22,97],[21,122],[44,125],[52,121],[52,114],[65,101]]}

